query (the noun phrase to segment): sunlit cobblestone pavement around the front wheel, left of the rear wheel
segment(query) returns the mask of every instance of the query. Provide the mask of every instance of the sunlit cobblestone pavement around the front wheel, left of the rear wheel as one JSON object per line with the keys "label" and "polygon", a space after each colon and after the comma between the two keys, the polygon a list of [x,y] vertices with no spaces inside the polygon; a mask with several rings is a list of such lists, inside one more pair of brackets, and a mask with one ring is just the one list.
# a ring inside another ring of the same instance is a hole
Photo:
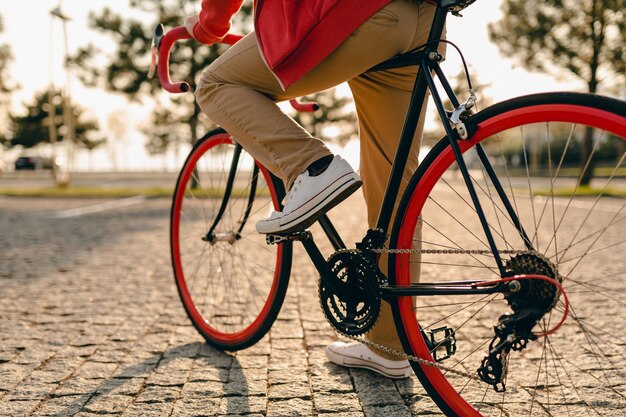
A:
{"label": "sunlit cobblestone pavement around the front wheel, left of the rear wheel", "polygon": [[[169,200],[67,211],[98,203],[0,199],[0,415],[440,415],[415,378],[327,362],[337,337],[300,245],[269,335],[223,353],[178,299]],[[355,204],[337,209],[351,213],[346,242],[365,231]]]}

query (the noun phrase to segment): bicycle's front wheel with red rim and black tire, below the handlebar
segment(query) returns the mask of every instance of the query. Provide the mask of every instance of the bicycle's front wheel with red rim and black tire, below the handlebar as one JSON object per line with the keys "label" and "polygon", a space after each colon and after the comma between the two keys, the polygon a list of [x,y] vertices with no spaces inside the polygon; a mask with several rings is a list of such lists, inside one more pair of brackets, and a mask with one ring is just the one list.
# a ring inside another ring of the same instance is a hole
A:
{"label": "bicycle's front wheel with red rim and black tire, below the handlebar", "polygon": [[223,130],[198,141],[180,172],[170,218],[172,266],[187,315],[213,346],[249,347],[278,315],[291,244],[267,245],[255,224],[280,210],[283,194],[282,184]]}

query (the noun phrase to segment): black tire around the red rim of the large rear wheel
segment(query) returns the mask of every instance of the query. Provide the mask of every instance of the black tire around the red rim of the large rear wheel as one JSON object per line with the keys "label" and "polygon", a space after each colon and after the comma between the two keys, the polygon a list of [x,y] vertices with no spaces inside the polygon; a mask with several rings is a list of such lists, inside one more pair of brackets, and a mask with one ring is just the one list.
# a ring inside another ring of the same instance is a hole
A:
{"label": "black tire around the red rim of the large rear wheel", "polygon": [[[526,107],[545,105],[545,104],[564,104],[564,105],[579,105],[586,106],[594,109],[605,110],[610,113],[616,114],[620,117],[626,117],[626,103],[620,100],[612,99],[605,96],[586,94],[586,93],[570,93],[570,92],[552,92],[552,93],[540,93],[540,94],[532,94],[527,96],[521,96],[517,98],[513,98],[507,101],[503,101],[501,103],[494,104],[487,109],[473,115],[469,118],[465,123],[468,126],[477,125],[485,120],[496,117],[500,114],[510,112],[511,110],[517,110]],[[398,210],[396,213],[396,217],[394,219],[392,232],[390,235],[390,249],[397,249],[398,245],[398,236],[402,229],[402,224],[404,221],[404,217],[406,215],[406,210],[409,206],[409,202],[414,193],[421,192],[417,190],[417,186],[428,170],[428,168],[433,164],[433,162],[450,146],[449,139],[447,136],[444,136],[437,144],[431,149],[428,155],[424,158],[424,160],[419,165],[418,169],[413,174],[409,184],[406,188],[404,195],[401,198],[401,201],[398,205]],[[395,266],[396,266],[396,256],[391,254],[389,256],[389,282],[391,285],[395,284]],[[391,301],[392,312],[394,316],[394,322],[396,325],[396,331],[398,332],[398,336],[402,345],[405,349],[405,352],[409,355],[413,355],[411,350],[408,337],[406,335],[406,331],[402,324],[402,317],[399,305],[397,302]],[[439,409],[448,417],[455,417],[457,414],[452,410],[452,408],[442,399],[439,395],[437,389],[432,385],[430,380],[426,377],[426,375],[421,370],[420,366],[412,362],[412,367],[415,375],[418,377],[420,383],[426,390],[426,392],[430,395],[435,404],[439,407]]]}

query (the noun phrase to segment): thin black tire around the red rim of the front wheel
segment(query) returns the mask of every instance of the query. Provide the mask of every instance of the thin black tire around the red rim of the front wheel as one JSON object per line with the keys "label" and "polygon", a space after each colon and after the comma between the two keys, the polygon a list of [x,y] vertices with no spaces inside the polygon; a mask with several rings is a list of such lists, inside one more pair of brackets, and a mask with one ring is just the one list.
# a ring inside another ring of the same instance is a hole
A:
{"label": "thin black tire around the red rim of the front wheel", "polygon": [[[287,294],[287,288],[289,286],[289,279],[291,275],[291,263],[292,263],[292,256],[293,256],[293,244],[292,242],[281,243],[283,245],[283,252],[282,252],[282,259],[281,259],[280,266],[279,266],[280,268],[279,277],[278,277],[279,282],[277,286],[276,295],[274,297],[274,300],[272,302],[272,305],[268,313],[266,314],[266,318],[263,320],[263,323],[250,337],[248,337],[247,339],[239,343],[234,343],[234,344],[220,343],[219,341],[216,341],[209,334],[207,334],[206,332],[202,330],[201,326],[198,323],[196,323],[196,320],[194,320],[194,317],[191,314],[189,307],[185,303],[185,300],[183,298],[183,294],[181,291],[181,287],[179,284],[179,277],[177,277],[176,275],[176,265],[175,265],[176,261],[175,261],[175,254],[174,254],[174,249],[173,249],[174,247],[173,245],[174,202],[176,201],[177,193],[179,191],[182,173],[185,167],[187,166],[188,162],[192,159],[193,155],[196,152],[198,152],[198,149],[202,146],[204,142],[211,140],[211,138],[213,138],[216,135],[222,135],[225,133],[226,131],[224,129],[216,128],[216,129],[209,131],[200,139],[198,139],[198,141],[196,141],[191,151],[189,152],[189,155],[187,156],[187,159],[185,160],[183,167],[181,168],[179,176],[176,180],[176,186],[174,189],[174,195],[172,196],[172,206],[170,210],[170,230],[169,230],[170,257],[171,257],[171,262],[172,262],[174,281],[176,283],[176,288],[177,288],[179,297],[181,299],[181,303],[183,304],[183,307],[185,308],[187,317],[189,318],[193,326],[196,328],[198,333],[206,340],[206,342],[209,345],[215,348],[218,348],[220,350],[225,350],[225,351],[238,351],[238,350],[246,349],[256,344],[259,340],[263,338],[263,336],[267,334],[267,332],[271,329],[272,325],[276,321],[276,318],[278,317],[282,304],[285,300],[285,296]],[[282,182],[274,176],[272,176],[272,187],[275,188],[279,201],[282,201],[284,194],[285,194],[284,186]]]}

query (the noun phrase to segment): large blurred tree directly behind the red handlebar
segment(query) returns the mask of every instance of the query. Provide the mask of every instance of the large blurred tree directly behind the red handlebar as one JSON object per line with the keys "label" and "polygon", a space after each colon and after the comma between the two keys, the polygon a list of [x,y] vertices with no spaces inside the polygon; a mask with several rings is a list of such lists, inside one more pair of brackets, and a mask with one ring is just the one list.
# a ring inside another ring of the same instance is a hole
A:
{"label": "large blurred tree directly behind the red handlebar", "polygon": [[[131,0],[130,5],[144,16],[122,16],[105,8],[89,17],[91,28],[113,39],[116,50],[112,55],[107,56],[100,48],[89,44],[81,48],[72,61],[86,85],[104,87],[131,100],[141,100],[145,94],[156,95],[163,91],[156,77],[153,80],[147,77],[154,28],[158,23],[163,23],[167,29],[180,26],[185,17],[196,14],[200,6],[187,0]],[[252,2],[247,1],[233,18],[233,32],[251,30],[251,15]],[[195,77],[227,48],[226,45],[209,47],[193,41],[177,42],[170,57],[172,79],[186,81],[194,89]],[[108,62],[102,62],[103,56],[107,56]],[[184,136],[188,143],[194,143],[198,135],[210,127],[193,94],[165,100],[171,105],[154,112],[150,125],[142,129],[148,136],[147,147],[151,153],[164,152],[172,144],[177,146],[182,137],[181,127],[187,131]],[[176,134],[164,134],[164,126],[169,126]]]}

